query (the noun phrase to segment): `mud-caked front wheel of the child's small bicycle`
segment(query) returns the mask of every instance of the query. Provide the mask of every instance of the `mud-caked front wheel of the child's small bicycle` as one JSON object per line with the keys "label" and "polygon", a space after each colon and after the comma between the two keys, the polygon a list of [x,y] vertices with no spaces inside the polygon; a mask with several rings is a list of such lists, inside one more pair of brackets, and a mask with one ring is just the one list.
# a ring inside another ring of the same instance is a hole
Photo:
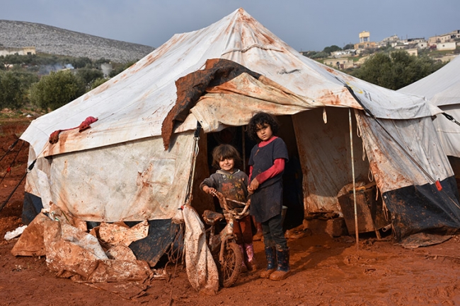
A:
{"label": "mud-caked front wheel of the child's small bicycle", "polygon": [[224,261],[219,264],[219,281],[222,287],[228,288],[238,280],[243,264],[243,254],[235,242],[226,242]]}

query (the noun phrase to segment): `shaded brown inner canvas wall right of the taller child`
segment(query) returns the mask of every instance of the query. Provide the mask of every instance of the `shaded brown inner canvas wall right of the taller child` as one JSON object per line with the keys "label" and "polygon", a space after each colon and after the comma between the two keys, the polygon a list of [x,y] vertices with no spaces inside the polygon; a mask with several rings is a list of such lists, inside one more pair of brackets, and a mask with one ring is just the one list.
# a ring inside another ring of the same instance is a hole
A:
{"label": "shaded brown inner canvas wall right of the taller child", "polygon": [[[306,216],[340,211],[338,192],[352,183],[350,123],[347,108],[324,107],[293,116],[303,171]],[[368,184],[369,161],[352,115],[355,181]]]}

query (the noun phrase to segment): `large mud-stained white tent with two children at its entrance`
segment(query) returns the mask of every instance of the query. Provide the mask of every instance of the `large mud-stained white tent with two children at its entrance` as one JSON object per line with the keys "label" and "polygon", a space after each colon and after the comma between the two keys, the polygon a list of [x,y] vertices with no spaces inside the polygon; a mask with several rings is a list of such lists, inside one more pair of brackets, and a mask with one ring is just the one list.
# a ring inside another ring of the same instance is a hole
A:
{"label": "large mud-stained white tent with two children at its entrance", "polygon": [[[367,157],[355,154],[357,175],[374,177],[398,239],[460,228],[452,168],[431,119],[442,111],[302,56],[242,8],[174,35],[102,86],[35,119],[21,136],[35,161],[26,201],[52,201],[93,222],[171,219],[192,190],[192,206],[209,206],[196,189],[209,174],[205,142],[199,173],[191,172],[197,122],[205,139],[265,111],[292,116],[305,211],[338,211],[336,195],[352,180],[349,109],[361,136],[355,150]],[[97,121],[73,129],[88,117]],[[53,133],[59,136],[51,143]]]}

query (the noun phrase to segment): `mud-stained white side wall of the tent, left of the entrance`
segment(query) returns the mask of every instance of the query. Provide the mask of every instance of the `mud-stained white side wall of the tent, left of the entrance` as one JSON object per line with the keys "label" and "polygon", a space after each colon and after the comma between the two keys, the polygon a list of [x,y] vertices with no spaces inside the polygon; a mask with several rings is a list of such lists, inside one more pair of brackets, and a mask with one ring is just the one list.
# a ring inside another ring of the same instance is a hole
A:
{"label": "mud-stained white side wall of the tent, left of the entrance", "polygon": [[[196,123],[195,123],[196,124]],[[161,137],[108,148],[57,155],[47,167],[51,200],[81,220],[117,222],[170,219],[183,203],[192,158],[191,131],[175,136],[163,151]],[[31,172],[32,173],[32,172]],[[43,184],[28,177],[26,190]],[[40,188],[39,188],[40,187]],[[39,193],[42,194],[42,193]],[[42,201],[49,201],[42,197]],[[43,202],[43,206],[49,205]]]}

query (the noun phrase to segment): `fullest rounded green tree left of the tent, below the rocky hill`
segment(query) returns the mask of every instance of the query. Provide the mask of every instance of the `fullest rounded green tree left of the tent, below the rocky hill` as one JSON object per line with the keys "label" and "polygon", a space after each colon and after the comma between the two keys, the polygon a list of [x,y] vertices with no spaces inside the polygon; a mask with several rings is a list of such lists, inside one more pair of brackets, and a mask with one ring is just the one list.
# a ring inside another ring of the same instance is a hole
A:
{"label": "fullest rounded green tree left of the tent, below the rocky hill", "polygon": [[85,91],[84,82],[71,71],[52,71],[30,88],[30,101],[42,109],[56,110],[79,98]]}

